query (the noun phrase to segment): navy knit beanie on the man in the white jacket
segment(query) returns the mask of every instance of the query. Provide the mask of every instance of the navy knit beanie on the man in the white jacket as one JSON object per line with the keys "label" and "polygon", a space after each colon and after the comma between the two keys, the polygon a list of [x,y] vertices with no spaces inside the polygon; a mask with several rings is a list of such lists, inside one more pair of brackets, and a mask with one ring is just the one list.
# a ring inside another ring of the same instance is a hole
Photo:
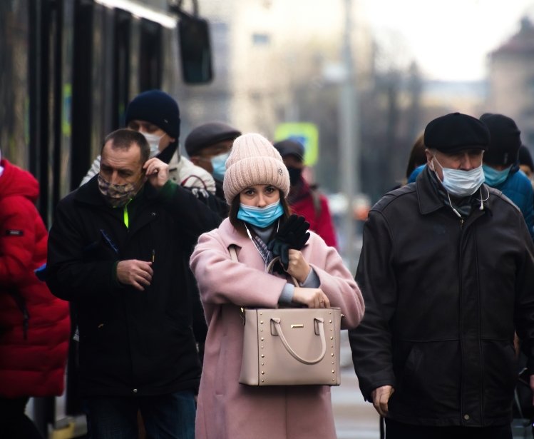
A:
{"label": "navy knit beanie on the man in the white jacket", "polygon": [[180,109],[165,91],[149,90],[135,96],[126,109],[125,123],[134,120],[153,123],[176,141],[180,137]]}

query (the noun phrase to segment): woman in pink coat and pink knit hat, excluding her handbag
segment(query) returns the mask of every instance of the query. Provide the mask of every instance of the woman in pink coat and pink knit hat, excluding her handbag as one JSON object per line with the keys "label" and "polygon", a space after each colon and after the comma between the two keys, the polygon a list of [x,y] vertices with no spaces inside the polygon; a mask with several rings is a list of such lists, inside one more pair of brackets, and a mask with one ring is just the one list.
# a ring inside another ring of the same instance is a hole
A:
{"label": "woman in pink coat and pink knit hat, excluding her handbag", "polygon": [[[196,439],[335,438],[330,388],[323,385],[251,387],[238,383],[243,345],[240,307],[294,303],[342,309],[354,328],[364,302],[337,251],[311,233],[302,251],[289,250],[286,277],[266,272],[266,243],[289,216],[289,174],[260,134],[235,139],[223,188],[230,216],[200,236],[191,256],[208,324],[198,397]],[[228,248],[235,246],[238,261]],[[283,367],[283,365],[281,365]]]}

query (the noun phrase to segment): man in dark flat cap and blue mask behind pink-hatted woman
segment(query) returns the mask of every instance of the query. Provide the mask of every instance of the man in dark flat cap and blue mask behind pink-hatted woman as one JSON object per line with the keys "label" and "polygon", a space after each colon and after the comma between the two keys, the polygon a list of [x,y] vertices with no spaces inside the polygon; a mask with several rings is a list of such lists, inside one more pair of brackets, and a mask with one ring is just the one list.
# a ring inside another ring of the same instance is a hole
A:
{"label": "man in dark flat cap and blue mask behind pink-hatted woman", "polygon": [[226,171],[226,159],[232,143],[241,136],[236,128],[222,122],[207,122],[195,127],[185,138],[185,151],[192,163],[204,168],[215,179],[215,195],[225,201],[222,181]]}

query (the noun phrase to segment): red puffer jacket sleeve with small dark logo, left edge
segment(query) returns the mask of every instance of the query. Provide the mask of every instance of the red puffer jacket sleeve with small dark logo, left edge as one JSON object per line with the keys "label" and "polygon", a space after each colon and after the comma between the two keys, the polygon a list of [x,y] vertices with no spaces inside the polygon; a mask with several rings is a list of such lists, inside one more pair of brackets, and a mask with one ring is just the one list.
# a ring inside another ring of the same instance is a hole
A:
{"label": "red puffer jacket sleeve with small dark logo, left edge", "polygon": [[16,286],[31,276],[38,213],[22,196],[4,198],[0,213],[0,283]]}

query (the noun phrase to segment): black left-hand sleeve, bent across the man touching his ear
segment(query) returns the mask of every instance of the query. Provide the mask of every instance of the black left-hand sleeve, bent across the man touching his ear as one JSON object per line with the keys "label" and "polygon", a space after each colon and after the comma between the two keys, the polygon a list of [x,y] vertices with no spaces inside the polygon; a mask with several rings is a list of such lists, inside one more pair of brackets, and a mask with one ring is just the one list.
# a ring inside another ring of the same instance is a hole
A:
{"label": "black left-hand sleeve, bent across the man touching his ear", "polygon": [[118,260],[84,261],[80,224],[60,201],[48,234],[46,284],[54,296],[66,301],[120,290],[114,278]]}

